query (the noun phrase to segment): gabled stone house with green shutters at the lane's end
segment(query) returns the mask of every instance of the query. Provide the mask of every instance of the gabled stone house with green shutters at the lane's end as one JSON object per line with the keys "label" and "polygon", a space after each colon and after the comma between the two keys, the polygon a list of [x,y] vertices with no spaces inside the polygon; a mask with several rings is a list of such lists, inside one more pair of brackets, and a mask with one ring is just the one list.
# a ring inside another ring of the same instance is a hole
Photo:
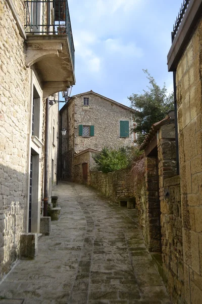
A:
{"label": "gabled stone house with green shutters at the lane's end", "polygon": [[77,94],[60,110],[59,176],[74,179],[74,156],[88,148],[130,146],[134,141],[134,110],[93,91]]}

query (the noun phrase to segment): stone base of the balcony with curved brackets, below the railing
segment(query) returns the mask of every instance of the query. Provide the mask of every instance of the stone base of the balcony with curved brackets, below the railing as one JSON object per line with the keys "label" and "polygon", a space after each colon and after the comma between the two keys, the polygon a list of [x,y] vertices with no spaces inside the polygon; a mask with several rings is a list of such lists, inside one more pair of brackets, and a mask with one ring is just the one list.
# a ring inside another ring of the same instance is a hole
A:
{"label": "stone base of the balcony with curved brackets, below the railing", "polygon": [[28,35],[26,66],[40,75],[43,98],[75,85],[74,64],[68,35]]}

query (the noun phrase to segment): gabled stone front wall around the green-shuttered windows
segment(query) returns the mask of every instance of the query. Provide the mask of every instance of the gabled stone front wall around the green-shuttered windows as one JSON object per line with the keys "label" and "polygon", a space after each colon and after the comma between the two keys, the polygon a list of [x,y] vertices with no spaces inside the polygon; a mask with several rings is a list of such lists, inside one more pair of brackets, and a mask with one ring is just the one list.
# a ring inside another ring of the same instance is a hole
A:
{"label": "gabled stone front wall around the green-shuttered windows", "polygon": [[[89,98],[89,106],[83,105],[83,98]],[[104,146],[118,148],[133,143],[133,133],[120,137],[120,121],[129,121],[133,127],[132,112],[117,106],[105,98],[94,94],[77,96],[75,99],[75,151],[87,148],[101,150]],[[79,125],[94,126],[94,136],[79,136]]]}

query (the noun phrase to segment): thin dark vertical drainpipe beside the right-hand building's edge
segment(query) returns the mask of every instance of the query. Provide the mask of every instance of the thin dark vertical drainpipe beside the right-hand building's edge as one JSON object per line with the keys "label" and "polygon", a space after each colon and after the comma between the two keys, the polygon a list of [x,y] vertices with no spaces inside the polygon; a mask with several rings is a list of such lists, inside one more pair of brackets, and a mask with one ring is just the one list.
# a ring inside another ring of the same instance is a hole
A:
{"label": "thin dark vertical drainpipe beside the right-hand building's edge", "polygon": [[[172,43],[174,40],[174,33],[171,33]],[[174,108],[175,108],[175,143],[176,143],[176,163],[177,175],[180,174],[179,170],[179,144],[178,144],[178,124],[177,124],[177,90],[176,90],[176,72],[173,72],[173,91],[174,91]]]}

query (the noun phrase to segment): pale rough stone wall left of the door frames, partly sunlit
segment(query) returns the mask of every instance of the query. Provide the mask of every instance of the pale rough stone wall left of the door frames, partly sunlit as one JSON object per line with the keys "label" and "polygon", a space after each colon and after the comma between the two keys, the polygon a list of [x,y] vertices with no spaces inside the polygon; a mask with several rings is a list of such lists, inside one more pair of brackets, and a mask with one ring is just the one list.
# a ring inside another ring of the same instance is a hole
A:
{"label": "pale rough stone wall left of the door frames, partly sunlit", "polygon": [[[18,2],[23,11],[23,3]],[[0,2],[0,255],[3,274],[19,254],[25,229],[27,154],[30,119],[30,69],[24,41],[6,1]]]}

